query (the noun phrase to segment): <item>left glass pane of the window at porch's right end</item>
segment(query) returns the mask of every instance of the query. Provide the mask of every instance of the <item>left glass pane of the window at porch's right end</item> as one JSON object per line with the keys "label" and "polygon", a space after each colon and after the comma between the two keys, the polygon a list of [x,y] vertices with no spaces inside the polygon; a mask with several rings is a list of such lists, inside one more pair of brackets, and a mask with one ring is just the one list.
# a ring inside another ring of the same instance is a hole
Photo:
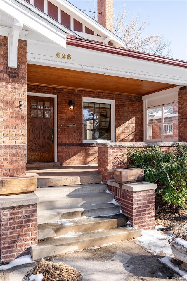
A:
{"label": "left glass pane of the window at porch's right end", "polygon": [[148,140],[160,140],[161,136],[161,124],[162,124],[162,108],[157,107],[148,109],[147,111],[148,127],[147,138]]}

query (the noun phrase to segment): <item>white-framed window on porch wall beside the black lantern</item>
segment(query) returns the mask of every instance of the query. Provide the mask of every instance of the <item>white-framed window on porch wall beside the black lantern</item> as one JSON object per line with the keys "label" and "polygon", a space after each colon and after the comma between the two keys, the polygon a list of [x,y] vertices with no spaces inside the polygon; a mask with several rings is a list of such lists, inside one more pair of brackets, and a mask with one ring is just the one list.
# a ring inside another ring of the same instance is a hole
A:
{"label": "white-framed window on porch wall beside the black lantern", "polygon": [[115,141],[115,101],[83,97],[83,142]]}

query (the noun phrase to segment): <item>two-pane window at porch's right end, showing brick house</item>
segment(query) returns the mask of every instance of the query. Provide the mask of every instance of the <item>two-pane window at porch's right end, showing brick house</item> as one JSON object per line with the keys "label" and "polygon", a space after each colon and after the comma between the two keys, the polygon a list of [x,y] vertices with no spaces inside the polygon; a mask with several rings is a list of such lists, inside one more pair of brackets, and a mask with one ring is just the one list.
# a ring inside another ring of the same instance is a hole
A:
{"label": "two-pane window at porch's right end, showing brick house", "polygon": [[178,104],[147,108],[147,140],[178,140]]}

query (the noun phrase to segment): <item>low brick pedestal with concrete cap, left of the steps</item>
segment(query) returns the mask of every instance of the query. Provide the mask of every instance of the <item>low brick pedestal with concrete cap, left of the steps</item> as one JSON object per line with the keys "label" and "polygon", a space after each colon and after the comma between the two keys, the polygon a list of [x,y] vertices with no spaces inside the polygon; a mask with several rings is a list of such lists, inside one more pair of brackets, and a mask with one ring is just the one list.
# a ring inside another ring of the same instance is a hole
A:
{"label": "low brick pedestal with concrete cap, left of the steps", "polygon": [[34,193],[0,197],[1,264],[30,254],[37,244],[37,203]]}

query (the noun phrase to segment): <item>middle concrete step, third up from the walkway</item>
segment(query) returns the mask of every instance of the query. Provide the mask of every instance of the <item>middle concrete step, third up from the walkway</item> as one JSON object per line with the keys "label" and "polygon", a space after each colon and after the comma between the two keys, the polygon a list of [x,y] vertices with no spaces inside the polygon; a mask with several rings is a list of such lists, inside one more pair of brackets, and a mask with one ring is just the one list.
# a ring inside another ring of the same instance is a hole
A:
{"label": "middle concrete step, third up from the walkway", "polygon": [[111,203],[87,204],[84,205],[84,207],[75,206],[67,208],[39,210],[38,224],[76,217],[95,217],[100,215],[116,214],[119,213],[120,210],[120,205],[114,205]]}

